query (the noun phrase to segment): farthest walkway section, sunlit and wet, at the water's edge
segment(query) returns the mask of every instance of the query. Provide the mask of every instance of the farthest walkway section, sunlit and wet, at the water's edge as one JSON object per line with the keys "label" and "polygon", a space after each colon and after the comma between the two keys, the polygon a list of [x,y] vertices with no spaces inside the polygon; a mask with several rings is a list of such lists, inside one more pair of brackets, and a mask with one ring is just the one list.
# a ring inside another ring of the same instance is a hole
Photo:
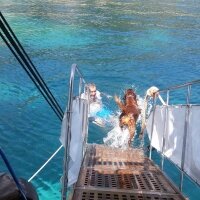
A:
{"label": "farthest walkway section, sunlit and wet, at the water's edge", "polygon": [[95,169],[132,169],[132,170],[154,170],[152,161],[144,158],[141,150],[121,150],[108,147],[90,147],[84,160],[83,167]]}

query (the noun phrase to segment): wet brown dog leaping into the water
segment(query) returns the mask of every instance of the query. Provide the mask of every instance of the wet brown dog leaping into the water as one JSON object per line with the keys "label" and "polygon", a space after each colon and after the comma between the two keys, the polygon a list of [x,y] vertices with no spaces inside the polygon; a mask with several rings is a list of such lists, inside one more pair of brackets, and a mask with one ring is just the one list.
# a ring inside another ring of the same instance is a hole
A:
{"label": "wet brown dog leaping into the water", "polygon": [[126,90],[124,95],[124,103],[121,102],[119,97],[115,96],[115,102],[118,104],[122,113],[119,117],[120,127],[127,126],[130,134],[129,146],[131,140],[135,134],[136,122],[140,114],[140,109],[138,108],[136,94],[132,89]]}

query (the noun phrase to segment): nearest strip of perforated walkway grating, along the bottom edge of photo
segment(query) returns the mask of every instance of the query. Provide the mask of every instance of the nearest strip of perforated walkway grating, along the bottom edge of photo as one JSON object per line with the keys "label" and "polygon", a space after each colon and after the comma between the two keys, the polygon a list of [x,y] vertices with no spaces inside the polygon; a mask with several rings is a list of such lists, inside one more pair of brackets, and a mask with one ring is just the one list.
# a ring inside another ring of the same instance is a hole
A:
{"label": "nearest strip of perforated walkway grating, along the bottom edge of photo", "polygon": [[180,195],[158,194],[130,194],[105,191],[77,190],[74,194],[76,200],[182,200]]}

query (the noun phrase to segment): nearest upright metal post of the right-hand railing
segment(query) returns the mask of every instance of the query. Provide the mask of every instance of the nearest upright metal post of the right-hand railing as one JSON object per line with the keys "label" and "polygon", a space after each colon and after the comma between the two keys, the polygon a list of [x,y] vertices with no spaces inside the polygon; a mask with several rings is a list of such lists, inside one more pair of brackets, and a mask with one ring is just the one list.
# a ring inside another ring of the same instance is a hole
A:
{"label": "nearest upright metal post of the right-hand railing", "polygon": [[185,111],[185,125],[184,125],[184,135],[183,135],[183,146],[182,146],[182,156],[181,156],[181,177],[180,177],[180,185],[179,189],[182,191],[183,188],[183,171],[185,164],[185,152],[186,152],[186,143],[187,143],[187,134],[189,127],[189,115],[190,115],[190,95],[191,95],[191,85],[187,87],[187,97],[186,97],[186,111]]}

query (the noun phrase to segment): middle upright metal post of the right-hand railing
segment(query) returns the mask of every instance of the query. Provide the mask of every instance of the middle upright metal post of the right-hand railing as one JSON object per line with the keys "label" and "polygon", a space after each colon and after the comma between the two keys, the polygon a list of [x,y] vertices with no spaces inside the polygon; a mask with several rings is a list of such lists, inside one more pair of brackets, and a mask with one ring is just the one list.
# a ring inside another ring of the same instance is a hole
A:
{"label": "middle upright metal post of the right-hand railing", "polygon": [[167,90],[167,102],[165,106],[165,120],[164,120],[164,132],[163,132],[163,138],[162,138],[162,150],[161,150],[161,155],[162,155],[162,160],[161,160],[161,169],[163,170],[164,166],[164,148],[165,148],[165,137],[167,134],[168,130],[168,109],[169,109],[169,90]]}

